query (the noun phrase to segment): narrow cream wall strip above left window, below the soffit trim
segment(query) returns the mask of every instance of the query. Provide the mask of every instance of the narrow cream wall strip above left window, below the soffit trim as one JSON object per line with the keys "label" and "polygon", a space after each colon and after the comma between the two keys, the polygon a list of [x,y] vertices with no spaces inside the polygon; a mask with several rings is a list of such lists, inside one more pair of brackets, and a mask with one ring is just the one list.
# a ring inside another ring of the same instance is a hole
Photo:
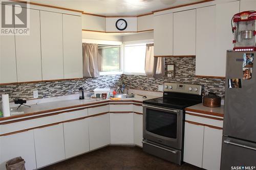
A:
{"label": "narrow cream wall strip above left window, below the soffit trim", "polygon": [[109,40],[109,41],[122,41],[122,36],[113,35],[111,33],[98,33],[92,31],[82,31],[83,39],[99,39],[99,40]]}

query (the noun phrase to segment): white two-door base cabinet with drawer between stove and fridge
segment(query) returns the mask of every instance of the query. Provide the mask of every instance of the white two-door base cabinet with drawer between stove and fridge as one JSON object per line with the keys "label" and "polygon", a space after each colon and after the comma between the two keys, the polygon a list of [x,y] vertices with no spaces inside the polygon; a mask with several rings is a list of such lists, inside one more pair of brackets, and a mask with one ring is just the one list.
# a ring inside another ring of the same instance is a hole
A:
{"label": "white two-door base cabinet with drawer between stove and fridge", "polygon": [[207,169],[220,169],[223,117],[187,112],[183,161]]}

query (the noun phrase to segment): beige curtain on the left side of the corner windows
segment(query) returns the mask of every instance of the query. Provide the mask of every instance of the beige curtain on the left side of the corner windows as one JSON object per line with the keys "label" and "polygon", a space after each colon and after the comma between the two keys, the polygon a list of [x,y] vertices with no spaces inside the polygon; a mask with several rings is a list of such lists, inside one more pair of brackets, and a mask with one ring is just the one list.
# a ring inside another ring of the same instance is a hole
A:
{"label": "beige curtain on the left side of the corner windows", "polygon": [[82,43],[83,77],[99,77],[98,44]]}

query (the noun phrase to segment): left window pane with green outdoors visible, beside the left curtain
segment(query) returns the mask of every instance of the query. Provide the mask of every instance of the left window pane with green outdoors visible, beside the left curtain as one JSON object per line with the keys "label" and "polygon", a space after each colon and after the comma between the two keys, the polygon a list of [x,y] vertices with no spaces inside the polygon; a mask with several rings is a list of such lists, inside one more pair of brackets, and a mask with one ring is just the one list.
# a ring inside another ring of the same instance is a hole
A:
{"label": "left window pane with green outdoors visible, beside the left curtain", "polygon": [[121,70],[121,46],[120,45],[98,45],[99,71]]}

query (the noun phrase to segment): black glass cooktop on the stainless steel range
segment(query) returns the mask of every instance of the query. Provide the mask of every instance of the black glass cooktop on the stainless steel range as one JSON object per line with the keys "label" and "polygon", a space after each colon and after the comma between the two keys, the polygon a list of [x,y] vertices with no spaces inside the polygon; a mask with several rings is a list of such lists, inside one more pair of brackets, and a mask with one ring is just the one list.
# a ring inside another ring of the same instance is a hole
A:
{"label": "black glass cooktop on the stainless steel range", "polygon": [[[184,94],[182,94],[184,97]],[[162,106],[174,109],[185,109],[186,107],[193,106],[196,104],[202,103],[202,96],[201,95],[187,95],[184,98],[177,98],[177,97],[162,97],[162,98],[155,98],[150,100],[143,101],[143,104],[153,105],[153,106]]]}

